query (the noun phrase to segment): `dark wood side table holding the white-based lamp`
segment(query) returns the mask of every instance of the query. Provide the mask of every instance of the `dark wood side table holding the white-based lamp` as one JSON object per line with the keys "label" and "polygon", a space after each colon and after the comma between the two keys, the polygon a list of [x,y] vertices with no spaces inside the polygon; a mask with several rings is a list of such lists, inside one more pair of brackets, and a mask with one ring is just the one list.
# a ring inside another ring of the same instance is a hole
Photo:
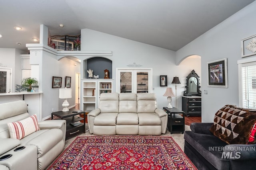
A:
{"label": "dark wood side table holding the white-based lamp", "polygon": [[[73,113],[73,111],[77,111],[76,113]],[[80,117],[78,115],[83,114],[84,117]],[[85,133],[86,127],[85,123],[80,123],[81,120],[84,120],[85,122],[85,111],[81,111],[78,109],[69,109],[69,111],[56,111],[52,112],[52,119],[53,116],[57,116],[60,119],[66,120],[66,139],[76,136],[80,133]]]}

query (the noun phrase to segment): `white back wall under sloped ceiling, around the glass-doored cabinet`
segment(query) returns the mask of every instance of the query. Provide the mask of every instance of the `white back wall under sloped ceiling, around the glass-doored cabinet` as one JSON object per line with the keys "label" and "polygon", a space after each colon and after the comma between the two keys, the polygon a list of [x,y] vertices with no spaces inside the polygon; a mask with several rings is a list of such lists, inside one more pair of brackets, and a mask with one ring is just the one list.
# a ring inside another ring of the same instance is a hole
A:
{"label": "white back wall under sloped ceiling, around the glass-doored cabinet", "polygon": [[[182,84],[177,84],[177,107],[181,109],[181,96],[186,84],[186,76],[193,70],[200,67],[200,59],[188,59],[181,66],[176,65],[176,53],[167,49],[147,45],[137,41],[132,41],[122,37],[94,31],[91,29],[81,30],[81,50],[82,51],[112,51],[112,78],[113,92],[116,91],[116,68],[127,68],[128,64],[141,64],[140,68],[153,68],[153,92],[156,93],[158,107],[168,105],[167,98],[163,96],[166,87],[160,87],[159,76],[167,75],[168,86],[174,89],[175,84],[171,84],[174,76],[180,78]],[[199,71],[199,70],[198,70]],[[104,73],[102,73],[104,74]],[[201,75],[198,72],[199,76]],[[175,99],[172,106],[175,106]]]}

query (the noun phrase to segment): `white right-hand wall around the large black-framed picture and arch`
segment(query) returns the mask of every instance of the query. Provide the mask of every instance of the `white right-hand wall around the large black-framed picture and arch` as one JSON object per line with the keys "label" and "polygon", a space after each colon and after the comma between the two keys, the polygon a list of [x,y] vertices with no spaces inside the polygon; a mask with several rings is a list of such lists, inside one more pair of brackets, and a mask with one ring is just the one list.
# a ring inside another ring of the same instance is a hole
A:
{"label": "white right-hand wall around the large black-framed picture and arch", "polygon": [[[246,6],[176,52],[176,63],[188,55],[200,55],[202,62],[202,122],[212,122],[214,114],[225,104],[238,105],[238,66],[240,40],[256,34],[256,2]],[[207,62],[228,59],[228,88],[207,86]],[[247,58],[247,57],[246,57]],[[208,94],[204,94],[204,90]]]}

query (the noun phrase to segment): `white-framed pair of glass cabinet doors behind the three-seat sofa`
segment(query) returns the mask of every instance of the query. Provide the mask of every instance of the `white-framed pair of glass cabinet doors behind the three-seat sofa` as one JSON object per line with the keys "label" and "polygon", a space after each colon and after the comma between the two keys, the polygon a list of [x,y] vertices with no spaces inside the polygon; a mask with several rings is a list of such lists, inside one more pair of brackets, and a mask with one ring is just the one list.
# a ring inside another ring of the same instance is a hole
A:
{"label": "white-framed pair of glass cabinet doors behind the three-seat sofa", "polygon": [[152,69],[117,68],[118,93],[152,93]]}

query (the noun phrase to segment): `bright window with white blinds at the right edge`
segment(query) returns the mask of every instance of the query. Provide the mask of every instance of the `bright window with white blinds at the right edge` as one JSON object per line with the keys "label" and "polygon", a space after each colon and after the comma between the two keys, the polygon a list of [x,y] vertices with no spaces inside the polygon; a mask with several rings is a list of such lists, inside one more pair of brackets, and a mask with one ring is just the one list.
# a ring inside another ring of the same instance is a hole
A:
{"label": "bright window with white blinds at the right edge", "polygon": [[242,107],[256,109],[256,62],[242,64]]}

